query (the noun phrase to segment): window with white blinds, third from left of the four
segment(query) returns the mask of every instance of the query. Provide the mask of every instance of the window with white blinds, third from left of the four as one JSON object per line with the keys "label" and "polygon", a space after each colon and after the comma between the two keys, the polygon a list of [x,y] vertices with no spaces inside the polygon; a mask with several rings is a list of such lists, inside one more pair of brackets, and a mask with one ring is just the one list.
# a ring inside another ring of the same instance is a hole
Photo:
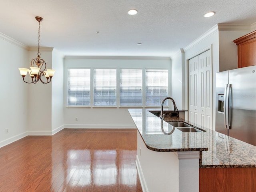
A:
{"label": "window with white blinds, third from left of the four", "polygon": [[142,69],[120,69],[120,106],[142,106]]}

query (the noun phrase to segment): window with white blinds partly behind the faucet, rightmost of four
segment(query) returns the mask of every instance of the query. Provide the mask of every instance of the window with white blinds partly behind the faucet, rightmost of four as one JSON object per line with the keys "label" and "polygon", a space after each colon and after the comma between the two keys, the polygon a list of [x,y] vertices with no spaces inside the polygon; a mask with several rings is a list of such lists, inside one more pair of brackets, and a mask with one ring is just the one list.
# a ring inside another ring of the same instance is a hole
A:
{"label": "window with white blinds partly behind the faucet, rightmost of four", "polygon": [[[168,70],[146,70],[146,106],[160,106],[168,96]],[[168,106],[168,101],[164,102]]]}

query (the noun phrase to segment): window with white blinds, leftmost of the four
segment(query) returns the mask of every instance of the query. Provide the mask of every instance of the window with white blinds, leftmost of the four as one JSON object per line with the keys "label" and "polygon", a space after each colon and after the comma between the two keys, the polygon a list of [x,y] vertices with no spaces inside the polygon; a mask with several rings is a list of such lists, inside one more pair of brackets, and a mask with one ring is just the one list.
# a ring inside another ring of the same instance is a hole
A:
{"label": "window with white blinds, leftmost of the four", "polygon": [[68,106],[90,106],[90,69],[68,69]]}

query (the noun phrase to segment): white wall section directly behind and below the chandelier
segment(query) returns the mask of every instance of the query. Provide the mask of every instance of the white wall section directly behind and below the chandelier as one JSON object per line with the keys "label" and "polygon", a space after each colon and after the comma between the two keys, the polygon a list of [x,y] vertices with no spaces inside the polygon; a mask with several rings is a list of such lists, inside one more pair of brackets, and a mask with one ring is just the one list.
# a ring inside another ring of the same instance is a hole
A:
{"label": "white wall section directly behind and below the chandelier", "polygon": [[[46,69],[52,68],[52,48],[40,48]],[[29,63],[37,50],[29,51]],[[52,83],[28,85],[28,135],[52,135]]]}

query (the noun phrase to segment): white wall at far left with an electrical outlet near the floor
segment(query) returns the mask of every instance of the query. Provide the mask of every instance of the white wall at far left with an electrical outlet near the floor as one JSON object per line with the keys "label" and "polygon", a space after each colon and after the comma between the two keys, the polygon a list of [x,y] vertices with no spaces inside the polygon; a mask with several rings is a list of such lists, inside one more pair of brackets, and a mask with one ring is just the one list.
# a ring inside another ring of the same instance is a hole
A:
{"label": "white wall at far left with an electrical outlet near the floor", "polygon": [[28,84],[18,68],[27,67],[27,60],[26,46],[0,33],[0,147],[26,136]]}

